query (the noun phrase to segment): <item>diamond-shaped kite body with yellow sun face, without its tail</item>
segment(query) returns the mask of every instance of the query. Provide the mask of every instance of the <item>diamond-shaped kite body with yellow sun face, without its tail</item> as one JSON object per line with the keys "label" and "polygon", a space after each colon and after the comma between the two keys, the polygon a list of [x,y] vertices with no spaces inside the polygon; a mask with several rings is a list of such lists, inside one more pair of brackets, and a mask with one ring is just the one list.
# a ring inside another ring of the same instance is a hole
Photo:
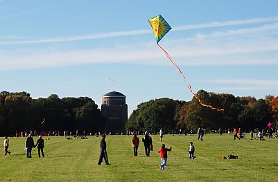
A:
{"label": "diamond-shaped kite body with yellow sun face, without its tail", "polygon": [[166,20],[162,17],[162,15],[157,15],[152,19],[148,20],[150,22],[150,26],[153,28],[153,33],[155,33],[155,37],[157,38],[157,43],[171,30],[171,26],[166,22]]}

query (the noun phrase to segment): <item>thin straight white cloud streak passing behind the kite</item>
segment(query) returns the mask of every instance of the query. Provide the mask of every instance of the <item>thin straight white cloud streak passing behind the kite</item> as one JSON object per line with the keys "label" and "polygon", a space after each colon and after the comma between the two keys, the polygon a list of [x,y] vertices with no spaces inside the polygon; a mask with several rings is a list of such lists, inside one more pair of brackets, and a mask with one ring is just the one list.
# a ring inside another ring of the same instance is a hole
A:
{"label": "thin straight white cloud streak passing behind the kite", "polygon": [[[259,23],[267,23],[267,22],[274,22],[278,21],[278,17],[262,17],[262,18],[254,18],[254,19],[244,19],[244,20],[235,20],[235,21],[220,21],[220,22],[210,22],[205,24],[193,24],[193,25],[186,25],[186,26],[177,26],[173,28],[173,31],[181,31],[181,30],[192,30],[192,29],[200,29],[200,28],[216,28],[221,26],[238,26],[238,25],[246,25],[246,24],[259,24]],[[272,25],[275,26],[275,25]],[[273,27],[262,27],[265,29],[273,28]],[[277,28],[277,24],[276,27]],[[243,32],[244,29],[241,29]],[[254,29],[254,31],[258,31]],[[110,37],[123,37],[123,36],[130,36],[130,35],[144,35],[152,33],[150,29],[144,30],[128,30],[128,31],[121,31],[121,32],[112,32],[112,33],[98,33],[92,35],[78,35],[72,37],[52,37],[52,38],[45,38],[45,39],[29,39],[26,41],[10,41],[10,42],[0,42],[0,45],[15,45],[15,44],[43,44],[43,43],[54,43],[54,42],[74,42],[80,40],[89,40],[89,39],[103,39],[103,38],[110,38]],[[229,31],[230,34],[235,34],[233,30]],[[214,33],[216,36],[219,33]],[[227,34],[227,33],[226,33]],[[202,35],[199,35],[199,39],[203,38]]]}

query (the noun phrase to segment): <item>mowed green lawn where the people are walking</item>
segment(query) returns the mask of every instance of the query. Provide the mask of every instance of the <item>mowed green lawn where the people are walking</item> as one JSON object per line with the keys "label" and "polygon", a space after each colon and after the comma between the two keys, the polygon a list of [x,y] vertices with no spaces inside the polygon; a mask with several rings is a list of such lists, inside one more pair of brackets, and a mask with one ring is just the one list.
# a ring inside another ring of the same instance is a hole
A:
{"label": "mowed green lawn where the people are walking", "polygon": [[[139,156],[134,157],[132,136],[107,136],[111,165],[97,164],[100,137],[44,137],[45,158],[38,157],[37,148],[33,149],[33,158],[26,158],[25,138],[10,138],[12,153],[0,155],[0,181],[278,181],[275,138],[250,140],[247,135],[234,140],[232,134],[207,134],[202,142],[197,135],[166,135],[163,143],[166,147],[172,145],[173,150],[168,152],[165,170],[160,171],[159,136],[152,136],[154,151],[150,157],[145,156],[142,137],[139,136]],[[188,158],[190,141],[196,147],[195,160]],[[238,159],[221,159],[229,154]]]}

